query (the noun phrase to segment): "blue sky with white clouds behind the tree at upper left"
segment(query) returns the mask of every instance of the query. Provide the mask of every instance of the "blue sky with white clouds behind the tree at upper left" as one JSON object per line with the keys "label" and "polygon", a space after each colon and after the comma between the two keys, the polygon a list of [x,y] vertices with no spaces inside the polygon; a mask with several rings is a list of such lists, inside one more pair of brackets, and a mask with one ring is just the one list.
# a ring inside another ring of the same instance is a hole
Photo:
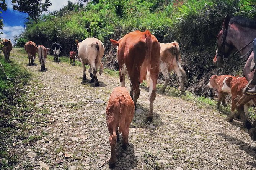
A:
{"label": "blue sky with white clouds behind the tree at upper left", "polygon": [[[44,0],[42,0],[44,2]],[[50,0],[52,3],[52,6],[49,6],[49,11],[57,11],[63,6],[67,5],[67,0]],[[70,0],[73,3],[76,3],[77,0]],[[0,30],[0,32],[3,32],[2,35],[0,35],[3,38],[10,39],[13,42],[13,37],[15,35],[18,35],[19,33],[24,31],[24,23],[26,22],[26,17],[28,17],[28,14],[26,13],[20,13],[18,11],[13,10],[11,0],[5,0],[7,3],[7,11],[3,11],[0,16],[3,17],[3,30]]]}

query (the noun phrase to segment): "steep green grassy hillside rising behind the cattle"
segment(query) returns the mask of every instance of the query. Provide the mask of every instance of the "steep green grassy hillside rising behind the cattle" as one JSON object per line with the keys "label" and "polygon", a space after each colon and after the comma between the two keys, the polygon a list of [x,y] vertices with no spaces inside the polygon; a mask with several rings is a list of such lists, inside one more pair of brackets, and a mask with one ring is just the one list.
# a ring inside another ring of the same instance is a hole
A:
{"label": "steep green grassy hillside rising behind the cattle", "polygon": [[[215,69],[216,36],[226,14],[256,17],[255,0],[93,0],[86,7],[68,3],[60,11],[42,16],[38,24],[26,23],[22,35],[36,44],[50,47],[59,42],[64,54],[76,50],[75,39],[96,37],[106,51],[105,67],[118,69],[116,49],[110,38],[119,39],[134,30],[150,30],[159,42],[177,41],[183,53],[187,87],[199,95],[212,95],[205,84],[212,74],[241,74],[236,61]],[[178,86],[176,76],[171,79]]]}

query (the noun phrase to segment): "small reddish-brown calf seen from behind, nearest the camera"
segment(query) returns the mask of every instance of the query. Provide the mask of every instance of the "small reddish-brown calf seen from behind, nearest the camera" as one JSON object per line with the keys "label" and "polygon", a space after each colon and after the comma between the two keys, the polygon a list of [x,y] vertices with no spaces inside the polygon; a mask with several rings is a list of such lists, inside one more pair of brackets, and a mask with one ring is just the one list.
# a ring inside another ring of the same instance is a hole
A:
{"label": "small reddish-brown calf seen from behind, nearest the camera", "polygon": [[[134,116],[134,103],[125,87],[116,87],[111,93],[106,109],[107,125],[109,130],[109,143],[111,146],[111,158],[109,168],[114,168],[116,163],[116,142],[119,141],[119,133],[122,133],[122,148],[128,146],[129,126]],[[119,127],[119,130],[118,130]]]}

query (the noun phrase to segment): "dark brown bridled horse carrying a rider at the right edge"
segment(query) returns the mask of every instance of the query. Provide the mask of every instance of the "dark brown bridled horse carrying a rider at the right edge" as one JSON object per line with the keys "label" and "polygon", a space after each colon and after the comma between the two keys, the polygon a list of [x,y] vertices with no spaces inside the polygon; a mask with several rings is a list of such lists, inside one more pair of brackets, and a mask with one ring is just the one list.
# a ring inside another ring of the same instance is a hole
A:
{"label": "dark brown bridled horse carrying a rider at the right edge", "polygon": [[[241,58],[247,58],[249,55],[243,69],[243,74],[245,75],[245,78],[248,82],[252,80],[255,72],[255,69],[251,71],[251,64],[254,64],[252,42],[255,38],[256,21],[251,21],[250,19],[243,17],[230,18],[230,16],[227,15],[222,24],[222,30],[220,30],[217,35],[218,48],[213,59],[215,66],[222,67],[225,58],[238,50],[236,53],[239,53],[242,56]],[[233,56],[234,55],[231,57]],[[253,85],[249,85],[249,83],[247,87],[248,86],[253,87]],[[254,95],[243,94],[240,100],[236,103],[237,111],[241,116],[243,125],[245,128],[247,128],[248,133],[253,141],[256,141],[256,121],[251,124],[249,118],[245,115],[243,105],[255,97],[256,96]]]}

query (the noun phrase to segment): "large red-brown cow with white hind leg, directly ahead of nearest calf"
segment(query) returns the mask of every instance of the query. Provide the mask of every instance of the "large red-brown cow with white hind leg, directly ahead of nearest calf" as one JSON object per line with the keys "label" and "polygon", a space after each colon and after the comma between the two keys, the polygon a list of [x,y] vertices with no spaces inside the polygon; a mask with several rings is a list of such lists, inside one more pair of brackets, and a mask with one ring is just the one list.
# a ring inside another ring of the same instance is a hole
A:
{"label": "large red-brown cow with white hind leg, directly ahead of nearest calf", "polygon": [[147,80],[149,86],[150,112],[147,120],[152,122],[153,103],[156,97],[156,85],[159,74],[160,44],[154,35],[147,30],[145,32],[134,31],[126,34],[119,41],[110,39],[117,49],[117,61],[119,64],[119,77],[122,87],[125,87],[126,74],[130,79],[130,96],[136,108],[140,95],[139,83]]}

